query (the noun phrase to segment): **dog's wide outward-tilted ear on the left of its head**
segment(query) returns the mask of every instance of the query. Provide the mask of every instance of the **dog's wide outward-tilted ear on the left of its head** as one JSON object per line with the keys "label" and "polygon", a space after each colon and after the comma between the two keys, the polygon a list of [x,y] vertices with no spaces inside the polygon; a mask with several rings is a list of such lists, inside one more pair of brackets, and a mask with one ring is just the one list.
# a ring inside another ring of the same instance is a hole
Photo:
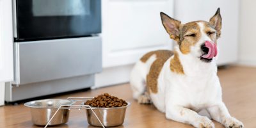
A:
{"label": "dog's wide outward-tilted ear on the left of its head", "polygon": [[171,17],[169,17],[163,12],[161,12],[160,15],[161,15],[163,26],[166,29],[167,33],[170,35],[170,38],[178,41],[179,35],[180,35],[180,31],[179,31],[180,21],[172,19]]}

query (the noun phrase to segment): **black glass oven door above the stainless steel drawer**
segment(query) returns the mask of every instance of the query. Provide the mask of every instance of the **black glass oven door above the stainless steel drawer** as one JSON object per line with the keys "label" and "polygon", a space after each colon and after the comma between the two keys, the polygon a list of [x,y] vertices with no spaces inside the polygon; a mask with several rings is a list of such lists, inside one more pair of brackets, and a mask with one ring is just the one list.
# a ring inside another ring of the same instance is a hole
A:
{"label": "black glass oven door above the stainless steel drawer", "polygon": [[100,0],[15,0],[15,41],[101,32]]}

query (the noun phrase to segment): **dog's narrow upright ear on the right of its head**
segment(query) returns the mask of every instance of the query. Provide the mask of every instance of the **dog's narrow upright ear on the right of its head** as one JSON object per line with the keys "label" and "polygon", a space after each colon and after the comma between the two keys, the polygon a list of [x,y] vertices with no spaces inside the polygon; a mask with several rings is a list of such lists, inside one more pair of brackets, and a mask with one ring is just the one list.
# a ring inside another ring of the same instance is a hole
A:
{"label": "dog's narrow upright ear on the right of its head", "polygon": [[220,8],[218,8],[217,12],[213,17],[210,19],[210,24],[216,29],[217,31],[217,38],[220,37],[221,34],[221,15],[220,15]]}

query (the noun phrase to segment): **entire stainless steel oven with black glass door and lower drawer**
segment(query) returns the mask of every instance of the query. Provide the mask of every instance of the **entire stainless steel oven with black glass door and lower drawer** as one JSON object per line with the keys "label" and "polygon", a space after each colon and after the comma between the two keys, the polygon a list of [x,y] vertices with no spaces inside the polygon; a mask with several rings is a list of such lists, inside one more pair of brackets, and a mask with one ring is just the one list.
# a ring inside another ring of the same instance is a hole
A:
{"label": "entire stainless steel oven with black glass door and lower drawer", "polygon": [[14,81],[5,100],[89,88],[102,70],[100,0],[13,0]]}

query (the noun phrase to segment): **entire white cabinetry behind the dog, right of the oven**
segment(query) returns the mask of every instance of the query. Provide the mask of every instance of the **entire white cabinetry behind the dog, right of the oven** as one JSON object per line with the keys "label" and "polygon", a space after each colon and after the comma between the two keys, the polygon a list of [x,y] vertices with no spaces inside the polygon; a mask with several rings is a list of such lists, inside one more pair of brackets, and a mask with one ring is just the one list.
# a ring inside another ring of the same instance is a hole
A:
{"label": "entire white cabinetry behind the dog, right of the oven", "polygon": [[239,0],[102,0],[103,72],[99,86],[129,81],[132,64],[156,49],[172,49],[159,12],[182,21],[209,20],[217,8],[223,18],[218,65],[237,60]]}

